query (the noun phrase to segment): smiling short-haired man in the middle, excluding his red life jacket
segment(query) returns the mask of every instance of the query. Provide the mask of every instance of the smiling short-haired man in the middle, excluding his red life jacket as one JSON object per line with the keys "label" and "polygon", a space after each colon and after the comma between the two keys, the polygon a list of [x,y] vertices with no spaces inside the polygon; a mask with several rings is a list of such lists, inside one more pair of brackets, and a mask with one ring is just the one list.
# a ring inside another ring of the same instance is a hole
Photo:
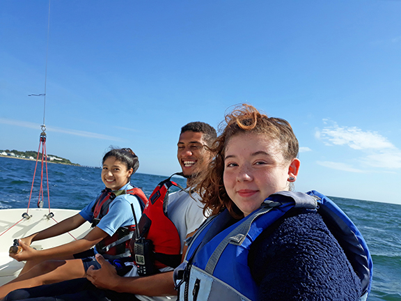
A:
{"label": "smiling short-haired man in the middle, excluding his red life jacket", "polygon": [[[182,174],[187,178],[187,189],[168,196],[168,217],[178,230],[182,254],[185,253],[184,240],[193,235],[203,222],[203,205],[196,192],[189,195],[189,190],[197,183],[198,176],[207,167],[212,154],[206,146],[211,146],[217,134],[207,123],[193,122],[181,128],[178,140],[178,162]],[[173,269],[164,268],[148,277],[120,277],[116,269],[102,256],[97,255],[102,268],[90,268],[87,279],[73,279],[58,284],[26,288],[10,293],[5,300],[175,300]],[[164,297],[162,297],[164,296]]]}

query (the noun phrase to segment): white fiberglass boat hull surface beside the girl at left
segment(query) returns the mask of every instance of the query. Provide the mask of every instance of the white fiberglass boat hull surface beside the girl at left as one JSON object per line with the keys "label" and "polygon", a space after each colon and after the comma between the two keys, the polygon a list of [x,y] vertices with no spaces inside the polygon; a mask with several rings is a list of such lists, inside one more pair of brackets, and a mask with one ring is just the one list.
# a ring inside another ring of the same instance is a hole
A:
{"label": "white fiberglass boat hull surface beside the girl at left", "polygon": [[[79,213],[79,210],[52,209],[51,212],[54,214],[53,218],[57,222],[61,222],[63,219],[76,215]],[[0,210],[0,286],[17,277],[24,266],[24,263],[15,261],[13,258],[8,256],[8,250],[13,245],[13,240],[15,238],[29,236],[32,233],[36,233],[56,224],[54,219],[47,218],[49,209],[38,208],[29,209],[28,214],[31,217],[29,219],[23,219],[21,222],[16,224],[20,219],[22,219],[23,213],[26,213],[26,209]],[[13,226],[14,224],[16,225]],[[8,231],[6,231],[7,229]],[[74,238],[79,239],[83,238],[90,229],[91,224],[85,223],[70,233]],[[55,238],[32,242],[31,247],[34,247],[35,249],[56,247],[74,240],[72,236],[65,233],[62,236],[57,236]]]}

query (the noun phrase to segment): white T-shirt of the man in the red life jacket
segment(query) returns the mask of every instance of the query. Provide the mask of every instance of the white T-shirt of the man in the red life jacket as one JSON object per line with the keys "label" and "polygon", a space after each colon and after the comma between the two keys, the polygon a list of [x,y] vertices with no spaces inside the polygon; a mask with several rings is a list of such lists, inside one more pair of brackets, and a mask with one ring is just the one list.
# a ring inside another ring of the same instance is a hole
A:
{"label": "white T-shirt of the man in the red life jacket", "polygon": [[[196,193],[189,195],[189,189],[180,190],[179,192],[173,192],[168,195],[167,214],[168,218],[175,225],[178,230],[178,235],[181,240],[181,253],[184,248],[185,238],[189,233],[194,232],[201,226],[202,222],[206,219],[203,215],[203,203],[199,201],[201,197]],[[160,271],[167,272],[173,270],[173,268],[167,267]],[[138,276],[136,272],[136,266],[124,277],[135,277]],[[173,277],[173,276],[171,276]],[[173,279],[171,280],[173,281]],[[136,298],[142,301],[167,301],[177,300],[177,296],[164,296],[164,297],[148,297],[146,295],[135,295]]]}

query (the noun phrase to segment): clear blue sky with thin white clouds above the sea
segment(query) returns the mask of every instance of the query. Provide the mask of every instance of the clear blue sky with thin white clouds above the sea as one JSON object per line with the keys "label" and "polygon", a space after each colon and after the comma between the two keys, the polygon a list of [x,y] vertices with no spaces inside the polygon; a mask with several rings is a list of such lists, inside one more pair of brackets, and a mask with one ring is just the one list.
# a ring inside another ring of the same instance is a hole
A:
{"label": "clear blue sky with thin white clouds above the sea", "polygon": [[169,176],[182,125],[248,103],[291,123],[296,190],[401,204],[401,1],[52,0],[48,16],[0,0],[0,149],[37,151],[45,117],[48,154],[100,166],[129,147]]}

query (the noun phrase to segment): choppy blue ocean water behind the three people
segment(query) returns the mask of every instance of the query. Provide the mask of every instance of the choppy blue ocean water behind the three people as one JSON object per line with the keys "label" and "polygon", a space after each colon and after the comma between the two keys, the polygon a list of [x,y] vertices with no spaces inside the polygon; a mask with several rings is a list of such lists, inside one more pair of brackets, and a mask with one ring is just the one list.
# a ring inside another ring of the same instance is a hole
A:
{"label": "choppy blue ocean water behind the three people", "polygon": [[[47,167],[51,208],[84,208],[104,188],[100,180],[100,169],[61,164],[48,164]],[[34,161],[0,157],[0,209],[26,208],[34,169]],[[36,208],[38,202],[39,164],[36,173],[31,208]],[[141,187],[149,196],[164,178],[166,177],[135,173],[132,183]],[[184,178],[175,177],[174,180],[185,185]],[[335,196],[330,198],[359,227],[372,253],[374,274],[368,300],[401,301],[401,206]],[[45,195],[44,207],[47,206]]]}

